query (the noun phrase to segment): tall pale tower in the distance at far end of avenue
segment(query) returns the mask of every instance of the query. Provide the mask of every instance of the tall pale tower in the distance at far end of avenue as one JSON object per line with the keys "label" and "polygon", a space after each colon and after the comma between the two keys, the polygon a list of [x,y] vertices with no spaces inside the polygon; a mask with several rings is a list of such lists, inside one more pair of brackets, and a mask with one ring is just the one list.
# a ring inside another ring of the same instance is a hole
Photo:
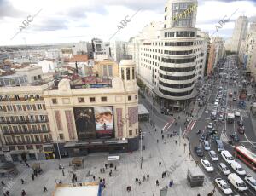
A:
{"label": "tall pale tower in the distance at far end of avenue", "polygon": [[246,16],[239,16],[235,23],[232,37],[226,42],[225,48],[232,52],[239,52],[241,41],[247,36],[248,20]]}

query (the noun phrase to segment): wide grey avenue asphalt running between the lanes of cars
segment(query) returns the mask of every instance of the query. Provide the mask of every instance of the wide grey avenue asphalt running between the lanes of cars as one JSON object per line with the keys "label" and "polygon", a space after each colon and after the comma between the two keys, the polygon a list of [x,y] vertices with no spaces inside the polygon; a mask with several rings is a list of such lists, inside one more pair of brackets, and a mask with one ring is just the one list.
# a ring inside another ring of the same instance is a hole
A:
{"label": "wide grey avenue asphalt running between the lanes of cars", "polygon": [[[207,105],[204,108],[204,112],[202,113],[200,118],[196,119],[194,128],[187,135],[189,138],[189,142],[190,142],[190,149],[191,149],[192,156],[195,159],[195,161],[198,161],[202,170],[204,170],[204,168],[202,167],[202,165],[200,163],[201,158],[197,157],[197,155],[195,154],[195,151],[194,151],[195,146],[201,145],[201,141],[199,141],[201,134],[197,135],[196,131],[201,130],[201,133],[205,133],[205,132],[207,133],[207,124],[209,122],[212,122],[214,124],[214,128],[218,131],[218,135],[220,136],[220,139],[222,141],[224,141],[224,148],[226,150],[228,150],[230,153],[233,153],[234,146],[232,146],[232,145],[243,145],[243,146],[247,147],[247,149],[249,149],[250,151],[255,153],[256,137],[255,137],[255,134],[253,131],[253,125],[252,125],[251,120],[248,115],[248,111],[247,111],[247,109],[239,108],[238,102],[233,101],[234,96],[236,96],[236,99],[238,100],[238,92],[239,92],[239,89],[241,89],[241,86],[234,84],[234,80],[230,79],[231,76],[232,76],[232,78],[234,78],[234,76],[236,76],[236,74],[237,74],[236,83],[241,84],[241,81],[239,81],[239,78],[241,78],[241,76],[239,76],[239,72],[236,70],[235,67],[236,67],[236,65],[235,65],[234,59],[228,58],[224,64],[224,69],[222,69],[222,72],[226,73],[225,77],[227,79],[224,79],[225,78],[224,76],[222,78],[219,77],[220,72],[216,73],[216,75],[218,74],[218,77],[215,79],[212,79],[213,87],[212,87],[211,93],[208,95]],[[211,81],[209,83],[211,83]],[[220,87],[222,88],[222,90],[219,91]],[[232,94],[233,94],[232,97],[229,96],[230,92],[232,92]],[[234,92],[237,92],[237,94],[234,95]],[[214,102],[215,102],[218,94],[222,95],[223,102],[220,103],[216,107]],[[211,113],[214,110],[217,111],[216,120],[211,119],[211,115],[212,115]],[[235,121],[233,123],[228,123],[226,119],[218,120],[221,112],[223,112],[224,116],[226,117],[228,112],[235,112],[235,111],[240,111],[241,116],[236,117]],[[246,130],[244,135],[237,133],[237,127],[238,127],[237,121],[238,120],[243,121],[245,130]],[[234,133],[234,132],[236,133],[236,135],[239,136],[240,141],[239,141],[239,143],[233,143],[232,145],[230,145],[228,142],[228,141],[230,141],[230,133]],[[212,141],[212,139],[210,138],[209,142],[211,145],[211,149],[214,150],[215,152],[218,152],[215,141]],[[224,164],[226,164],[224,162],[224,159],[222,159],[220,153],[218,153],[218,159],[219,159],[218,162],[212,162],[212,160],[210,159],[207,152],[205,152],[204,155],[210,161],[212,166],[214,167],[214,172],[212,172],[212,173],[207,173],[207,171],[204,170],[206,175],[210,177],[211,181],[214,182],[214,179],[217,177],[221,177],[227,181],[227,176],[224,176],[224,174],[222,174],[220,172],[220,170],[218,170],[218,168],[217,168],[217,164],[220,162],[223,162]],[[240,160],[236,160],[236,161],[241,163]],[[226,165],[228,165],[228,164],[226,164]],[[256,177],[255,172],[253,172],[253,170],[250,170],[250,168],[248,168],[247,165],[245,165],[243,163],[241,163],[241,165],[247,171],[247,174],[250,174],[254,178]],[[230,165],[228,165],[228,167],[231,172],[234,172],[232,170],[232,168],[230,167]],[[243,178],[243,177],[241,177],[241,178]],[[230,186],[233,190],[234,195],[238,194],[235,187],[233,187],[231,184],[230,184]],[[238,195],[256,195],[256,192],[251,187],[249,187],[249,190],[247,192],[239,193]]]}

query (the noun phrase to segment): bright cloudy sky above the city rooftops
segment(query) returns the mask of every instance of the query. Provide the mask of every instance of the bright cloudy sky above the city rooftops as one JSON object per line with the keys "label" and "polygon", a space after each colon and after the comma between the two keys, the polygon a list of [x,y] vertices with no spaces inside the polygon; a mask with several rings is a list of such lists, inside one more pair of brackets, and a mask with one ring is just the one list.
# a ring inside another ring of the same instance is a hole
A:
{"label": "bright cloudy sky above the city rooftops", "polygon": [[[78,43],[93,37],[106,42],[128,41],[150,22],[164,20],[165,3],[166,0],[0,0],[0,45]],[[240,15],[256,22],[255,10],[256,0],[199,0],[196,27],[212,35],[218,21],[235,12],[214,34],[227,38]],[[131,21],[120,28],[125,18]]]}

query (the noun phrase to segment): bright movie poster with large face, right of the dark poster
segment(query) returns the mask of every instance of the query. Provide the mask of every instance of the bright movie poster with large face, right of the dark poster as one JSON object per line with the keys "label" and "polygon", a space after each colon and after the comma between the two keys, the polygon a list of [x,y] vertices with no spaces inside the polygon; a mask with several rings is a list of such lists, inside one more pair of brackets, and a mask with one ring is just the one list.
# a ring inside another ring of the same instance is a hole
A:
{"label": "bright movie poster with large face, right of the dark poster", "polygon": [[97,138],[114,137],[113,107],[94,107]]}

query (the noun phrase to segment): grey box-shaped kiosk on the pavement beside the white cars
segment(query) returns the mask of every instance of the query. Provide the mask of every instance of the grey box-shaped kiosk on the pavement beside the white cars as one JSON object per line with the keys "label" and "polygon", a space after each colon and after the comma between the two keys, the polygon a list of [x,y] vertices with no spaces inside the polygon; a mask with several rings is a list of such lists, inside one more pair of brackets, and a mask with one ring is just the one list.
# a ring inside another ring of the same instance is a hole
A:
{"label": "grey box-shaped kiosk on the pavement beside the white cars", "polygon": [[187,174],[187,180],[191,187],[200,187],[203,185],[205,175],[199,167],[189,168]]}

